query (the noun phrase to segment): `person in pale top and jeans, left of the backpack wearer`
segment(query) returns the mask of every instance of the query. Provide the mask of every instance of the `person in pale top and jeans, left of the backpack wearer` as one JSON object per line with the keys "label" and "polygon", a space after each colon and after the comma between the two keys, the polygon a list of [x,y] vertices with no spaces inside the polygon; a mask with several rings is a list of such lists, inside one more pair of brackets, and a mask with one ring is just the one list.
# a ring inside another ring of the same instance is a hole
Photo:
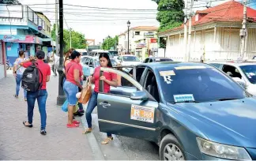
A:
{"label": "person in pale top and jeans, left of the backpack wearer", "polygon": [[[18,98],[19,92],[20,92],[20,86],[21,86],[21,78],[22,74],[24,73],[24,67],[20,66],[19,64],[21,62],[24,62],[26,59],[24,58],[24,51],[19,51],[19,58],[16,59],[13,66],[13,76],[16,80],[16,94],[13,95],[15,98]],[[27,101],[27,91],[24,90],[24,101]]]}

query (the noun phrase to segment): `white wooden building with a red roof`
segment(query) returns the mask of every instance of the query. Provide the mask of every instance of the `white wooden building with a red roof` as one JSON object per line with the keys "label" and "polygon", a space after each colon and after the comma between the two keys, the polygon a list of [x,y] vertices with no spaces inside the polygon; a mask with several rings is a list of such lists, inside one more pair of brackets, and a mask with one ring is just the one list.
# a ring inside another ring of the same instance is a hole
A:
{"label": "white wooden building with a red roof", "polygon": [[[256,55],[256,10],[247,7],[246,55]],[[205,52],[205,60],[231,60],[239,57],[242,28],[243,5],[230,1],[219,6],[197,11],[192,18],[190,61],[198,61]],[[188,24],[188,23],[187,23]],[[166,37],[166,57],[183,61],[184,26],[158,33]]]}

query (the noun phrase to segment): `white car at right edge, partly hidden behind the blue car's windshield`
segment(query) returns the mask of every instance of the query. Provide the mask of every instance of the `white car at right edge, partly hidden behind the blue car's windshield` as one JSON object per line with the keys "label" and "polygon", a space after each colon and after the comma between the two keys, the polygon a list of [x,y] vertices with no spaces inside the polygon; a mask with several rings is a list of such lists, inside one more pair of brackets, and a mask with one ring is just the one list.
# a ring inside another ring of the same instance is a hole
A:
{"label": "white car at right edge, partly hidden behind the blue car's windshield", "polygon": [[243,88],[256,95],[256,63],[252,62],[209,62],[210,65],[227,73]]}

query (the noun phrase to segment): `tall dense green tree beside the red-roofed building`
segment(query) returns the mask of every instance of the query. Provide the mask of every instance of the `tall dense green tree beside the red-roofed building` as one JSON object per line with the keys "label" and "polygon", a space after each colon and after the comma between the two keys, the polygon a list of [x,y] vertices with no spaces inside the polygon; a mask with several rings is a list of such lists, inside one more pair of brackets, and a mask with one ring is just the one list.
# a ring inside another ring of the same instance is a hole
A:
{"label": "tall dense green tree beside the red-roofed building", "polygon": [[183,0],[152,0],[158,5],[156,20],[160,22],[159,32],[179,27],[184,19]]}

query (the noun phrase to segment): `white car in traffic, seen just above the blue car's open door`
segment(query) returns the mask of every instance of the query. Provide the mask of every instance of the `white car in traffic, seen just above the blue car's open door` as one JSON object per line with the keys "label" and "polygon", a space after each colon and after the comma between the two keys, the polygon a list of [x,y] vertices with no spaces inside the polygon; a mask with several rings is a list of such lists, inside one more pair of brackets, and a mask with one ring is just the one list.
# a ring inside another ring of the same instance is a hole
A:
{"label": "white car in traffic, seen just above the blue car's open door", "polygon": [[139,58],[131,54],[119,55],[117,62],[119,62],[121,66],[135,66],[141,63]]}

